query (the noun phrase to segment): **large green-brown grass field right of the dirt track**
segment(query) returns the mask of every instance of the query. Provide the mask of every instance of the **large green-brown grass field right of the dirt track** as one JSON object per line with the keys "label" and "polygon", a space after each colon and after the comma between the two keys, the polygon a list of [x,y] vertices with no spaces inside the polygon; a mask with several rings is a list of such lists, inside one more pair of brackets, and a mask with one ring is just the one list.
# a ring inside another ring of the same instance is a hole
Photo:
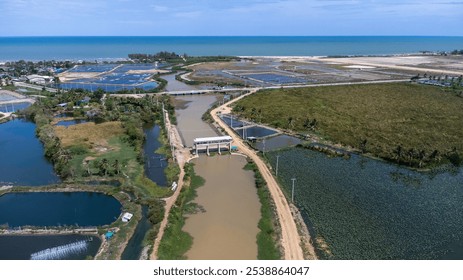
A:
{"label": "large green-brown grass field right of the dirt track", "polygon": [[315,133],[333,144],[360,149],[367,140],[365,152],[402,163],[417,164],[420,153],[429,163],[435,150],[439,161],[454,148],[463,153],[463,98],[438,87],[396,83],[264,90],[237,102],[234,111],[270,126]]}

